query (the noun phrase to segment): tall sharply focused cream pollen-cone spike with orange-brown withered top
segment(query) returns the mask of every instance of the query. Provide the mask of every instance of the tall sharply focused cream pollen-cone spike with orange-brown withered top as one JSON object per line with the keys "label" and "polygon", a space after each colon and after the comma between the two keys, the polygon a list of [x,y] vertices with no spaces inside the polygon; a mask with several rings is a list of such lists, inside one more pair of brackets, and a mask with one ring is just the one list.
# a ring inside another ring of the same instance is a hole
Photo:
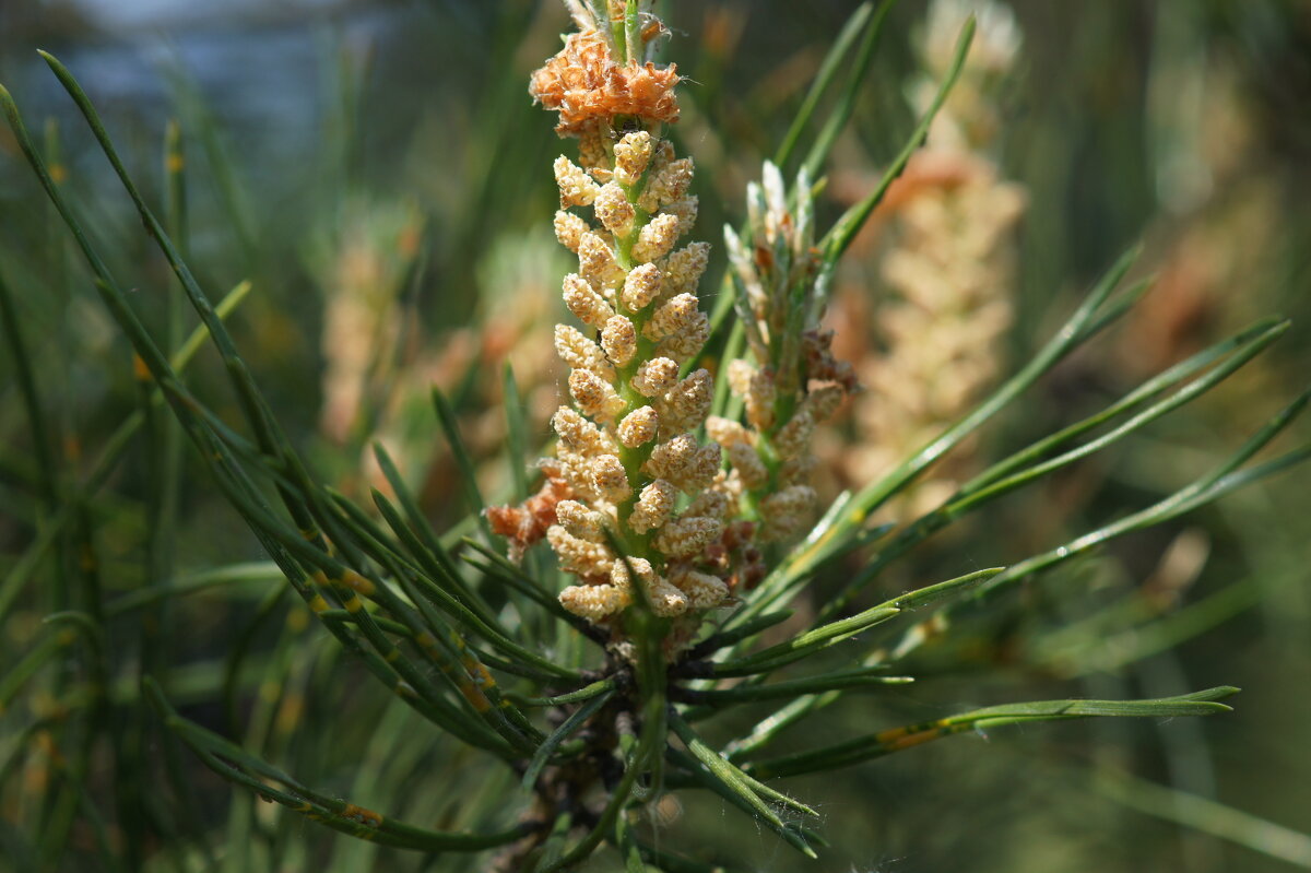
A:
{"label": "tall sharply focused cream pollen-cone spike with orange-brown withered top", "polygon": [[[555,518],[545,528],[535,520],[532,532],[545,530],[560,566],[577,577],[560,594],[565,610],[621,638],[625,611],[642,602],[687,623],[670,634],[687,640],[697,613],[730,596],[738,570],[716,552],[737,497],[722,450],[694,436],[714,379],[679,372],[709,337],[697,298],[709,246],[679,248],[696,219],[695,168],[659,138],[659,126],[678,118],[678,75],[638,58],[663,28],[644,13],[642,46],[632,51],[616,46],[610,21],[598,26],[593,8],[572,5],[581,31],[530,89],[560,113],[556,131],[579,139],[577,163],[561,156],[553,165],[556,237],[578,257],[561,286],[577,325],[555,333],[573,404],[552,419],[556,457],[544,461],[558,481]],[[635,596],[637,583],[645,598]]]}

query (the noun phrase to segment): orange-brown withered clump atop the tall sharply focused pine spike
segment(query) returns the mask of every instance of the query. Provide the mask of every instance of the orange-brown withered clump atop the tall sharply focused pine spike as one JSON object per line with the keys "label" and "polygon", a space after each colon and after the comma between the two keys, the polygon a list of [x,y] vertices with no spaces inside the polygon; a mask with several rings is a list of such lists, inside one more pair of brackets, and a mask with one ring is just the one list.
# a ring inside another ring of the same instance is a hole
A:
{"label": "orange-brown withered clump atop the tall sharply focused pine spike", "polygon": [[549,110],[560,113],[556,132],[577,136],[597,119],[636,115],[653,122],[678,121],[674,87],[675,64],[620,66],[595,30],[569,34],[565,47],[532,73],[528,93]]}

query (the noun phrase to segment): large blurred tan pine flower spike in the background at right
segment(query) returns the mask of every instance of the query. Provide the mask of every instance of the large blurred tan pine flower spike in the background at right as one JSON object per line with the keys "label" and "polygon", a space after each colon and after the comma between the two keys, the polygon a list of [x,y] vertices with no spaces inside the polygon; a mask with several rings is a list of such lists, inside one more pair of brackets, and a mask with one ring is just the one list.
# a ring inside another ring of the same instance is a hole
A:
{"label": "large blurred tan pine flower spike in the background at right", "polygon": [[[889,294],[869,313],[873,330],[847,337],[857,349],[868,343],[859,367],[869,387],[852,404],[856,444],[834,459],[848,481],[881,475],[969,410],[994,381],[998,349],[1013,321],[1015,229],[1027,193],[1006,177],[998,153],[998,85],[1020,43],[1013,13],[991,1],[931,4],[918,47],[923,72],[907,84],[916,106],[927,106],[933,76],[945,68],[950,41],[970,13],[978,30],[961,81],[889,191],[878,265]],[[928,511],[971,467],[966,452],[936,465],[931,477],[889,501],[885,516]]]}

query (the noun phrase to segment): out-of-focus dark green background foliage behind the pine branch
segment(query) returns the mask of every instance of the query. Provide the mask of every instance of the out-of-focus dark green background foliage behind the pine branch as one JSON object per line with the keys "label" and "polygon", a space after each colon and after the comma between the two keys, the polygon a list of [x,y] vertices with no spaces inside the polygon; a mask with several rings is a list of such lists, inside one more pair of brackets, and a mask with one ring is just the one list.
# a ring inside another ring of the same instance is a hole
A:
{"label": "out-of-focus dark green background foliage behind the pine branch", "polygon": [[[724,222],[739,219],[745,184],[856,5],[667,1],[667,56],[688,77],[674,136],[697,161],[697,237],[718,244]],[[1311,372],[1311,4],[1009,5],[1024,42],[996,92],[995,153],[1028,204],[1012,325],[991,341],[999,371],[1024,362],[1135,240],[1138,269],[1158,282],[1126,324],[1062,364],[973,451],[1024,444],[1262,315],[1294,324],[1214,396],[922,548],[924,578],[1006,564],[1159,499],[1214,465]],[[912,128],[907,83],[923,20],[914,0],[893,9],[829,168],[821,224],[844,191],[873,185]],[[538,423],[557,405],[547,325],[568,270],[549,223],[560,143],[526,80],[564,28],[552,0],[7,0],[0,81],[29,119],[49,117],[47,155],[111,266],[131,277],[143,319],[176,337],[193,326],[169,303],[165,265],[37,47],[81,80],[128,169],[153,181],[148,197],[185,203],[170,214],[185,222],[202,281],[249,282],[228,322],[319,473],[367,495],[380,477],[364,450],[382,439],[423,482],[442,530],[465,506],[429,387],[452,397],[490,499],[509,497],[513,480],[502,457],[506,362],[522,387],[510,402]],[[233,794],[160,735],[136,689],[146,672],[164,678],[189,717],[375,809],[458,827],[472,807],[517,790],[461,769],[465,750],[429,738],[359,682],[271,585],[277,573],[160,410],[117,464],[97,468],[143,389],[8,131],[0,228],[0,275],[47,425],[34,439],[14,358],[0,355],[0,869],[464,869],[292,821]],[[843,294],[877,308],[886,244],[877,227],[869,236]],[[716,250],[705,296],[722,270]],[[198,355],[189,372],[197,393],[235,409],[216,357]],[[859,436],[850,418],[838,434]],[[545,435],[544,426],[531,434]],[[42,455],[58,482],[42,481]],[[953,658],[964,653],[975,670],[936,675],[948,659],[926,648],[914,670],[926,682],[848,700],[815,735],[1013,699],[1021,686],[1027,697],[1124,697],[1230,683],[1244,689],[1235,713],[969,735],[796,780],[798,796],[823,804],[836,844],[812,868],[1311,869],[1308,511],[1306,473],[1294,471],[1127,537],[953,636]],[[73,523],[41,547],[60,513]],[[197,591],[149,599],[163,585]],[[47,634],[42,617],[69,608],[104,616],[96,657]],[[1152,632],[1103,624],[1125,612],[1177,620]],[[46,659],[33,659],[47,645]],[[108,695],[79,703],[96,665]],[[671,844],[737,845],[762,870],[798,864],[775,838],[703,804],[682,814],[670,805]],[[1262,830],[1244,813],[1289,830]]]}

